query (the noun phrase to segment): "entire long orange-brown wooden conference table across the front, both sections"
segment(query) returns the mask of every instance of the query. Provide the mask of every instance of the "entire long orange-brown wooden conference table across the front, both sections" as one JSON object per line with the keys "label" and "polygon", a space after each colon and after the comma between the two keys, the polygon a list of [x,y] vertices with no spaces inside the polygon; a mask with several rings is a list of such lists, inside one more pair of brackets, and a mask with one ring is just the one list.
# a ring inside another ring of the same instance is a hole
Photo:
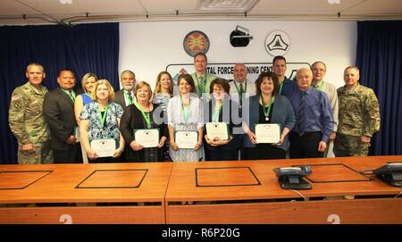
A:
{"label": "entire long orange-brown wooden conference table across the front, both sections", "polygon": [[[0,165],[0,223],[402,223],[401,188],[358,172],[401,161]],[[303,164],[313,188],[281,189],[272,170]]]}

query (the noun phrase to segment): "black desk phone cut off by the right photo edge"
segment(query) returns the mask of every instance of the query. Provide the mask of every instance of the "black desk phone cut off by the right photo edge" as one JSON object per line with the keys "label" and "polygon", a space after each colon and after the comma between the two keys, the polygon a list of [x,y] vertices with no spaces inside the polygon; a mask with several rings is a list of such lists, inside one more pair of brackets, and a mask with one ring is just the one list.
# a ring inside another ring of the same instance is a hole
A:
{"label": "black desk phone cut off by the right photo edge", "polygon": [[402,163],[388,163],[373,171],[373,174],[391,186],[402,187]]}

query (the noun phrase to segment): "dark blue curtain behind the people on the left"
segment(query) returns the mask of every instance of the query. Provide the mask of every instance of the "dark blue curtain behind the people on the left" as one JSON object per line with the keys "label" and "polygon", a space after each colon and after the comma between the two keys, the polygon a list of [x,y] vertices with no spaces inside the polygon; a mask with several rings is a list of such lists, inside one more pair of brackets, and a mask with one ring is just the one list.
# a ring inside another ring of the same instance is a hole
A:
{"label": "dark blue curtain behind the people on the left", "polygon": [[46,72],[44,85],[57,88],[63,68],[75,72],[77,87],[87,72],[111,81],[119,88],[119,24],[0,27],[0,163],[16,163],[16,139],[8,126],[8,108],[13,89],[27,82],[29,63],[41,63]]}

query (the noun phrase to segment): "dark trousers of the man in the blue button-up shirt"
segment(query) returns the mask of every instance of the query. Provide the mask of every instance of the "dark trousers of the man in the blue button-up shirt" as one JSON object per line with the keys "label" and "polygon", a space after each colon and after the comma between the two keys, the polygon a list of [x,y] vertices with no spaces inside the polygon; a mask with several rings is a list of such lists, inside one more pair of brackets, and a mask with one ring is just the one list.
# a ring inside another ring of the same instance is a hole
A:
{"label": "dark trousers of the man in the blue button-up shirt", "polygon": [[323,153],[318,151],[322,132],[308,132],[300,137],[295,132],[289,133],[291,159],[297,158],[319,158],[323,157]]}

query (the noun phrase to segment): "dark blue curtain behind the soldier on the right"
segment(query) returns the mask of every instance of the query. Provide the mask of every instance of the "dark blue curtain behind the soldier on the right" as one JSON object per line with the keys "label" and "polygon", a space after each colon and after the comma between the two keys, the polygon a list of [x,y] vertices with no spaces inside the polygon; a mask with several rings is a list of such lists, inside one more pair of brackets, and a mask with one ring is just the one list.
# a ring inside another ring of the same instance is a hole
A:
{"label": "dark blue curtain behind the soldier on the right", "polygon": [[357,22],[360,82],[380,102],[381,130],[370,154],[402,154],[402,21]]}

